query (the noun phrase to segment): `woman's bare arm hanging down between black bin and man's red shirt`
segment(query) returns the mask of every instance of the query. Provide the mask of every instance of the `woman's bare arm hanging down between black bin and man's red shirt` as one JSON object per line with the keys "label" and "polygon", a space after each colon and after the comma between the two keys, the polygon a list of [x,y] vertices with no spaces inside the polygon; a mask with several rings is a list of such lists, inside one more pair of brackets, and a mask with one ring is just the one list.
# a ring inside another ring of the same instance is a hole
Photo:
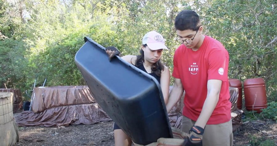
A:
{"label": "woman's bare arm hanging down between black bin and man's red shirt", "polygon": [[160,85],[163,92],[164,102],[167,105],[168,95],[169,95],[169,82],[170,82],[170,71],[168,67],[164,66],[164,69],[161,73]]}

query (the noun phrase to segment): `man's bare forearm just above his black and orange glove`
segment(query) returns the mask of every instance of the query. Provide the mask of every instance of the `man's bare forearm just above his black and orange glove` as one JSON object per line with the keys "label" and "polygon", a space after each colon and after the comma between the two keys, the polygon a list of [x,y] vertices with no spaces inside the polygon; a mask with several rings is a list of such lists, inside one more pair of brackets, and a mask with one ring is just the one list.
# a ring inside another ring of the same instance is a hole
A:
{"label": "man's bare forearm just above his black and orange glove", "polygon": [[195,126],[205,127],[219,100],[219,93],[208,93],[202,111],[195,122]]}

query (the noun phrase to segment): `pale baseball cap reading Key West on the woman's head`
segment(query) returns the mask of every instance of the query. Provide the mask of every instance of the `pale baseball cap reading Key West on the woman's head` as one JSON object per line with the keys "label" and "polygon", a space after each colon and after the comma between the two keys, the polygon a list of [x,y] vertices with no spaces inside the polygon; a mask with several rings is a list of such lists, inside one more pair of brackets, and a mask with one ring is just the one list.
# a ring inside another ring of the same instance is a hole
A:
{"label": "pale baseball cap reading Key West on the woman's head", "polygon": [[156,31],[148,32],[143,36],[143,45],[147,44],[147,46],[151,50],[159,50],[159,49],[169,49],[165,46],[165,40],[161,34]]}

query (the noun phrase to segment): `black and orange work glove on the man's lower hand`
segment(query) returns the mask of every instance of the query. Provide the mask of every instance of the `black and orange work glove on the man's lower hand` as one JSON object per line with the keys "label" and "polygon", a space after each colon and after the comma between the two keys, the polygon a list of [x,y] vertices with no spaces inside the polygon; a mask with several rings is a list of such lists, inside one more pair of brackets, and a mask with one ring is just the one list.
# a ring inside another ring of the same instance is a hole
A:
{"label": "black and orange work glove on the man's lower hand", "polygon": [[202,146],[203,133],[203,128],[193,126],[185,139],[183,146]]}

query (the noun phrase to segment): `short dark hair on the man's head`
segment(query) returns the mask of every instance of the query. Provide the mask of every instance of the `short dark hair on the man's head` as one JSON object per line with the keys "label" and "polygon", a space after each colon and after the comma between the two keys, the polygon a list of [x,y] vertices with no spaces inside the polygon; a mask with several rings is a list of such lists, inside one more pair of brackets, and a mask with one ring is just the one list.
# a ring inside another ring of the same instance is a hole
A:
{"label": "short dark hair on the man's head", "polygon": [[174,26],[176,30],[196,31],[201,26],[198,14],[193,10],[182,10],[175,18]]}

